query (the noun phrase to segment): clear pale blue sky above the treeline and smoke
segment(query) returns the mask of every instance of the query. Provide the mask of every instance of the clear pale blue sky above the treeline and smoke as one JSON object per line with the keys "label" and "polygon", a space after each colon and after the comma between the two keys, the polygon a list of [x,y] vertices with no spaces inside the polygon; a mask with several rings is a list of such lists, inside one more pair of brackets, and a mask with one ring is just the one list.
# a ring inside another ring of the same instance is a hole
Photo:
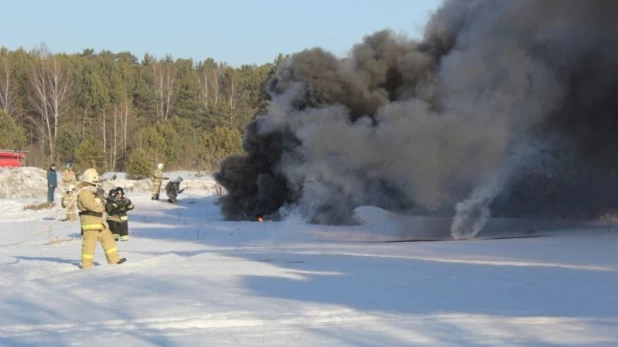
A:
{"label": "clear pale blue sky above the treeline and smoke", "polygon": [[0,46],[85,48],[262,64],[323,47],[344,56],[390,28],[420,37],[442,0],[0,0]]}

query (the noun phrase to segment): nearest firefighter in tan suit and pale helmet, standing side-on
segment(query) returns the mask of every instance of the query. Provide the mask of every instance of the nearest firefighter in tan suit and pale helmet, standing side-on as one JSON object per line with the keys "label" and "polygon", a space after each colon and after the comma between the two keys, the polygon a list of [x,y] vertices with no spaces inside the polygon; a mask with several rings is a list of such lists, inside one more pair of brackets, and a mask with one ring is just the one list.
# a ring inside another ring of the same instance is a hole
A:
{"label": "nearest firefighter in tan suit and pale helmet, standing side-on", "polygon": [[82,269],[93,266],[94,251],[97,242],[100,242],[105,251],[108,264],[121,264],[126,261],[120,258],[116,241],[112,232],[104,224],[105,197],[100,196],[96,187],[99,174],[95,169],[84,172],[82,182],[78,184],[77,208],[80,210],[79,220],[83,233],[82,241]]}

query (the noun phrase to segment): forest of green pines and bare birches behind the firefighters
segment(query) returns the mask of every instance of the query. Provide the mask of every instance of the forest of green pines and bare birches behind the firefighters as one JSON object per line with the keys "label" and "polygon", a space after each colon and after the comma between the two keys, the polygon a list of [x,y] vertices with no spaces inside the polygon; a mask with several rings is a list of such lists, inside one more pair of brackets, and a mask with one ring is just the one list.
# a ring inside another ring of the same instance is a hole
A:
{"label": "forest of green pines and bare birches behind the firefighters", "polygon": [[162,161],[213,170],[241,151],[283,59],[234,68],[212,58],[0,48],[0,149],[26,150],[27,165],[39,167],[72,161],[141,176]]}

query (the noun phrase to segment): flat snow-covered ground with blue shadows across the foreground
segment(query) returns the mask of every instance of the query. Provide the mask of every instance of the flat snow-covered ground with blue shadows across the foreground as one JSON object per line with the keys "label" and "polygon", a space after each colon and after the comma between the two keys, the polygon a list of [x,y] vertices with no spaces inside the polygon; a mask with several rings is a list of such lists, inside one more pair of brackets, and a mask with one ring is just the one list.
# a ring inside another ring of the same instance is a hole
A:
{"label": "flat snow-covered ground with blue shadows across the foreground", "polygon": [[107,265],[99,247],[91,270],[78,222],[0,200],[0,345],[618,345],[611,226],[367,243],[393,227],[371,209],[371,225],[325,227],[226,222],[207,190],[178,206],[129,197],[128,262]]}

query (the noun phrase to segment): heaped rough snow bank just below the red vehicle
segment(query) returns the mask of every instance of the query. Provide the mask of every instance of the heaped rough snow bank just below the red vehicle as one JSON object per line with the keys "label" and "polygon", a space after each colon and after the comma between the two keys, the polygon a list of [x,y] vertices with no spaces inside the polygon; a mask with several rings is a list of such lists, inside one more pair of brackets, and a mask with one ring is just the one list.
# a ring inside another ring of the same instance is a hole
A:
{"label": "heaped rough snow bank just below the red vehicle", "polygon": [[45,197],[47,172],[36,167],[0,168],[0,186],[3,199]]}

